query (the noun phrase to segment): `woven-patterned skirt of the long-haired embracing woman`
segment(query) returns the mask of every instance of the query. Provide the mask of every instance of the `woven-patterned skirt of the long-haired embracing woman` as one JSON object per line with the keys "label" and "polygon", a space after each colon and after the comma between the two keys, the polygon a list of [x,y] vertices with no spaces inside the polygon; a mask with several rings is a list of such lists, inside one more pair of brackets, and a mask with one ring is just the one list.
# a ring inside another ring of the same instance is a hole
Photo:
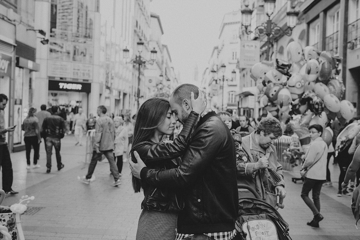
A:
{"label": "woven-patterned skirt of the long-haired embracing woman", "polygon": [[177,213],[143,209],[139,217],[136,240],[175,240]]}

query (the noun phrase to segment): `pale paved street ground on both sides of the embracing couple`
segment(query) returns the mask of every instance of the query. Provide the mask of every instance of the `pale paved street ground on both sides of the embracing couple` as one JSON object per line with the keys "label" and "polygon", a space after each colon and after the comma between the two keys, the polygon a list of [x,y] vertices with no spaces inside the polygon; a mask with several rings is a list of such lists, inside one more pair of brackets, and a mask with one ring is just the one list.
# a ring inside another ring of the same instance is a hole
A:
{"label": "pale paved street ground on both sides of the embracing couple", "polygon": [[[134,240],[140,203],[143,194],[135,194],[131,187],[130,169],[124,163],[122,184],[111,186],[112,176],[108,163],[98,163],[96,180],[90,185],[77,180],[85,175],[85,146],[74,146],[73,136],[62,140],[62,161],[65,167],[58,171],[55,154],[53,169],[46,174],[46,154],[42,143],[39,164],[41,168],[26,170],[25,152],[11,154],[14,183],[13,189],[20,191],[17,196],[8,196],[2,205],[17,203],[22,195],[35,196],[29,207],[42,207],[33,215],[22,215],[22,227],[26,239],[38,240],[85,240],[121,239]],[[84,144],[85,145],[85,144]],[[106,161],[105,161],[106,162]],[[55,166],[55,167],[54,167]],[[331,167],[333,167],[331,165]],[[333,187],[321,191],[321,213],[324,220],[320,228],[306,225],[312,219],[310,209],[300,197],[301,182],[291,182],[297,173],[285,173],[287,196],[285,208],[280,209],[289,223],[293,240],[359,240],[350,209],[350,196],[337,197],[337,181]],[[338,166],[332,170],[332,179],[338,178]]]}

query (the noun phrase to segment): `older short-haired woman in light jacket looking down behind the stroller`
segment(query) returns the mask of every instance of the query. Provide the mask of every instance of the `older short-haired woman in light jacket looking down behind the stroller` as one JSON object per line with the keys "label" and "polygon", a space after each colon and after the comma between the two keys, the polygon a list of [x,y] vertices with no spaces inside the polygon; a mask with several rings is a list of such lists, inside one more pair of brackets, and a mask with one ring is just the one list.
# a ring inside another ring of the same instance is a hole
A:
{"label": "older short-haired woman in light jacket looking down behind the stroller", "polygon": [[[283,134],[279,120],[263,118],[255,132],[242,138],[245,157],[237,160],[238,183],[254,188],[267,203],[282,206],[286,195],[283,180],[283,166],[278,162],[275,139]],[[280,196],[279,204],[276,195]]]}

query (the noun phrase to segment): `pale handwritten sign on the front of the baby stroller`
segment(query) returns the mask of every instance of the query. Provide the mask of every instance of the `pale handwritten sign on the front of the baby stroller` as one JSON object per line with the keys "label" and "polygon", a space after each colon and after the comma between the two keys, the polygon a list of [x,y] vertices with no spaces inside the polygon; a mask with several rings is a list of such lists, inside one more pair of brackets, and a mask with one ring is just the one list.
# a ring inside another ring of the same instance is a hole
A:
{"label": "pale handwritten sign on the front of the baby stroller", "polygon": [[246,240],[278,240],[273,222],[268,219],[252,219],[243,223]]}

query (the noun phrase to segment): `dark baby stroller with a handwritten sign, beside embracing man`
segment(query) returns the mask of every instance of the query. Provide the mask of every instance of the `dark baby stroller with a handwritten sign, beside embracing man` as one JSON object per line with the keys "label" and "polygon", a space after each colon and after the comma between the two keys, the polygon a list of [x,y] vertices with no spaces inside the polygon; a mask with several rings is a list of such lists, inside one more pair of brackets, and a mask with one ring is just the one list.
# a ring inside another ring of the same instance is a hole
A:
{"label": "dark baby stroller with a handwritten sign, beside embracing man", "polygon": [[249,190],[254,197],[239,197],[239,213],[235,228],[237,240],[292,240],[289,225],[278,211],[262,201],[250,186],[238,184],[238,188]]}

